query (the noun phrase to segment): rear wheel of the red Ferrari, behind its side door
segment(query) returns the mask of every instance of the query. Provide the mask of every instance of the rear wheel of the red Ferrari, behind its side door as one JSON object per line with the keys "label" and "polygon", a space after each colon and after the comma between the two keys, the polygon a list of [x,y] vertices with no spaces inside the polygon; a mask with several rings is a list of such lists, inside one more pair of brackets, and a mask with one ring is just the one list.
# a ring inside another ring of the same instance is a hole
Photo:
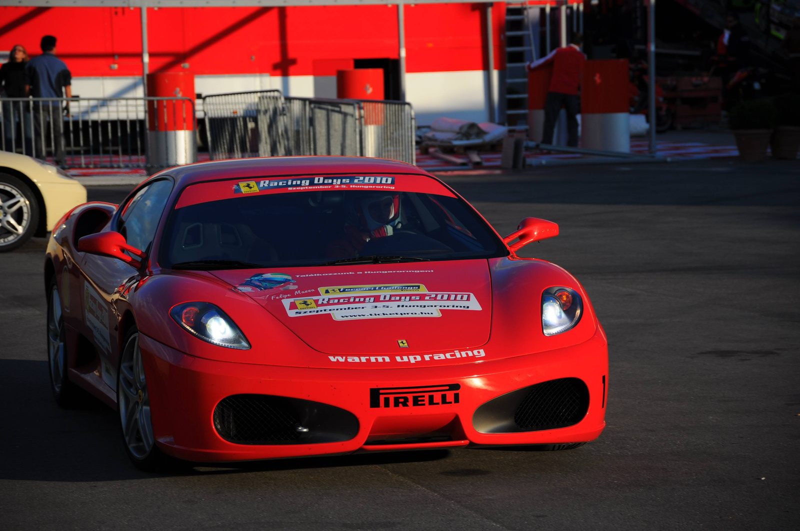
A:
{"label": "rear wheel of the red Ferrari, behind its side door", "polygon": [[66,355],[66,329],[61,295],[55,276],[47,289],[47,365],[50,372],[50,389],[62,408],[78,405],[81,389],[70,381]]}

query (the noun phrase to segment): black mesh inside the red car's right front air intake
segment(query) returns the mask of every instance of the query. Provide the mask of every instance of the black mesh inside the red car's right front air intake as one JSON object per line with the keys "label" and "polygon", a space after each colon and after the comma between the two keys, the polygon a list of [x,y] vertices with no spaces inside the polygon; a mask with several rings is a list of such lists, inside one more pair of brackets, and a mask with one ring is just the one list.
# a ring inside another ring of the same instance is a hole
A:
{"label": "black mesh inside the red car's right front air intake", "polygon": [[555,429],[578,424],[589,408],[589,389],[578,378],[559,378],[531,385],[514,410],[521,429]]}

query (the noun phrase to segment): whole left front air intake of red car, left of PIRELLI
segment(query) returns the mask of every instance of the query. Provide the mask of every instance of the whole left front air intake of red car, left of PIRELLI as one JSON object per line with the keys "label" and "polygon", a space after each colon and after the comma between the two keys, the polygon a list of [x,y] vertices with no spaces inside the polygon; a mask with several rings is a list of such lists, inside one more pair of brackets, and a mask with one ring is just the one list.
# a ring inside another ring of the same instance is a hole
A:
{"label": "whole left front air intake of red car, left of PIRELLI", "polygon": [[214,429],[239,445],[299,445],[349,441],[358,434],[353,413],[309,400],[234,394],[214,408]]}

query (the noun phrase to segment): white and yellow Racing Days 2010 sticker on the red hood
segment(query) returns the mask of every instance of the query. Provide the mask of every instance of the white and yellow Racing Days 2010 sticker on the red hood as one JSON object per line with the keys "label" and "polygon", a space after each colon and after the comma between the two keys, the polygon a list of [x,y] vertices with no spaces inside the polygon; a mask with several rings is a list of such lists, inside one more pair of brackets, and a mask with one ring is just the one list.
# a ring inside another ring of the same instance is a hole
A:
{"label": "white and yellow Racing Days 2010 sticker on the red hood", "polygon": [[[283,307],[289,317],[308,317],[310,315],[330,314],[335,321],[354,321],[357,319],[382,319],[390,317],[442,317],[442,310],[477,309],[481,305],[474,293],[428,292],[425,286],[392,285],[395,289],[378,289],[380,285],[335,286],[320,288],[331,294],[319,297],[299,297],[283,299]],[[402,290],[413,286],[416,290]],[[333,289],[359,288],[362,291],[339,291]],[[418,294],[414,294],[418,293]]]}

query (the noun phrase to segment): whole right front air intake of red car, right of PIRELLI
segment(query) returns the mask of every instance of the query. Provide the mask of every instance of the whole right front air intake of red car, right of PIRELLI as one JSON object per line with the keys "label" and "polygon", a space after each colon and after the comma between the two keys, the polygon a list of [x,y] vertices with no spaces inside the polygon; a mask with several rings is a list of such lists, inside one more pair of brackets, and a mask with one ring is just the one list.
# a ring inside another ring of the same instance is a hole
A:
{"label": "whole right front air intake of red car, right of PIRELLI", "polygon": [[519,433],[578,424],[589,410],[589,389],[579,378],[558,378],[494,398],[475,410],[480,433]]}

